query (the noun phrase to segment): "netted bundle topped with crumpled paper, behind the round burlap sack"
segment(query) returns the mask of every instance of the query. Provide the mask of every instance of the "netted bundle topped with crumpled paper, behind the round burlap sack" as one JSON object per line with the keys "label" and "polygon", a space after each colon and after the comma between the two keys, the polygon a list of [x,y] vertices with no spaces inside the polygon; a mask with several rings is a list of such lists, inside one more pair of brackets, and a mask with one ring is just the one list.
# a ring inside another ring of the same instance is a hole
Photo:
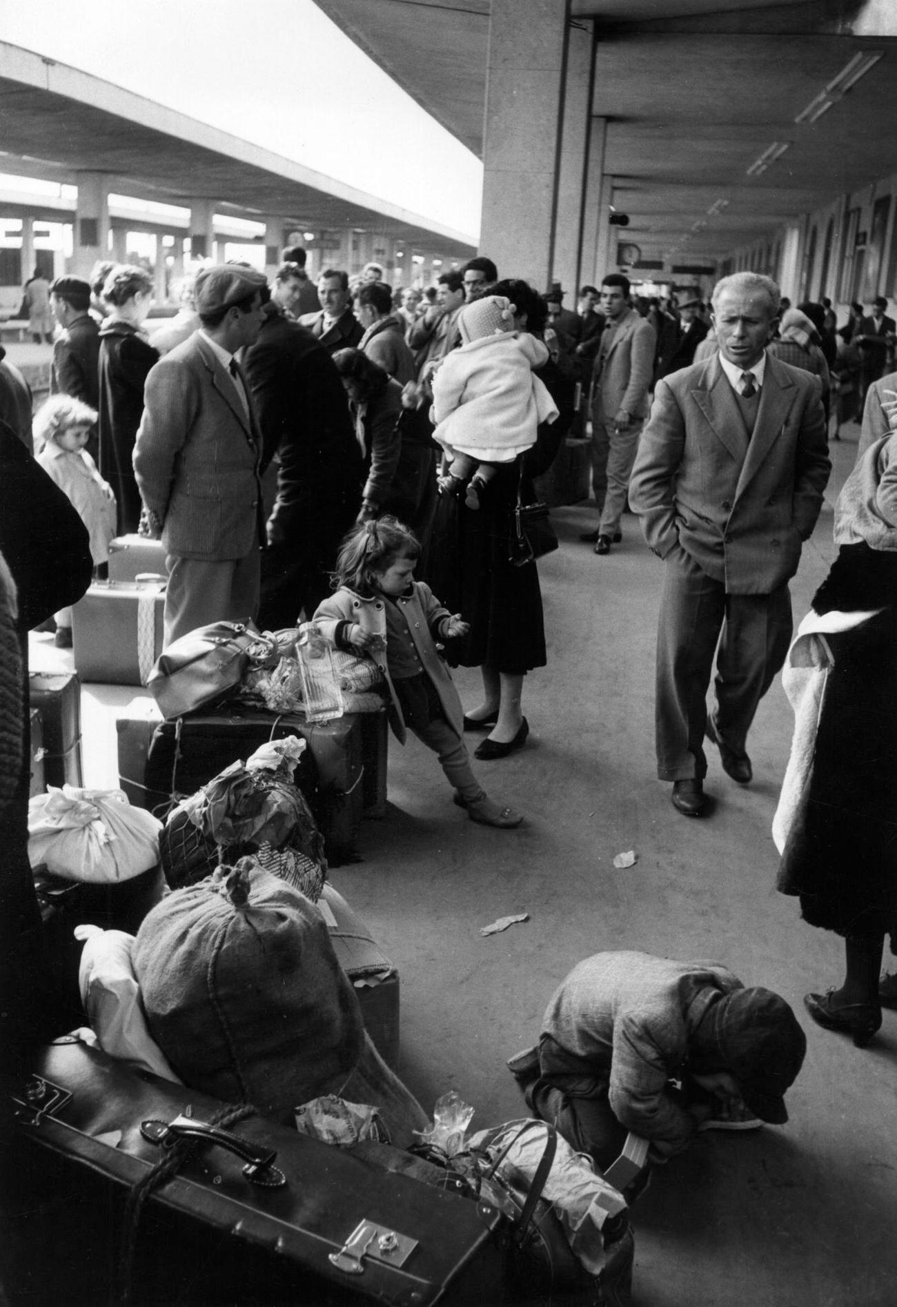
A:
{"label": "netted bundle topped with crumpled paper, behind the round burlap sack", "polygon": [[313,903],[327,872],[324,840],[293,784],[306,741],[271,740],[234,762],[171,810],[160,838],[165,877],[175,889],[194,885],[218,864],[254,853]]}

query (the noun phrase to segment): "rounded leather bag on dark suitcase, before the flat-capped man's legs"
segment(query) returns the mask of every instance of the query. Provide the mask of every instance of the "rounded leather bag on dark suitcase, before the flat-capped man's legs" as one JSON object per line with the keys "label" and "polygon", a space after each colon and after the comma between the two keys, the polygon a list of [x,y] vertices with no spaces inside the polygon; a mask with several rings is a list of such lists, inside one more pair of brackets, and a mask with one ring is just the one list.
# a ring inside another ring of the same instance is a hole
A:
{"label": "rounded leather bag on dark suitcase, before the flat-capped man's legs", "polygon": [[263,667],[277,657],[272,637],[239,622],[213,622],[169,644],[149,673],[146,689],[166,720],[180,718],[226,699],[251,665]]}

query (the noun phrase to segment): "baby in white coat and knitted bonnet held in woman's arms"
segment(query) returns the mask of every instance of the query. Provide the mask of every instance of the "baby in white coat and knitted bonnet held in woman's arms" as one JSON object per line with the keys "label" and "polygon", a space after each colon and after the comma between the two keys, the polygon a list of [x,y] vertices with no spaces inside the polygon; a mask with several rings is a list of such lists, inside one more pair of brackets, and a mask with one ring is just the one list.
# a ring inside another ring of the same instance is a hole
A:
{"label": "baby in white coat and knitted bonnet held in woman's arms", "polygon": [[536,443],[540,422],[557,408],[533,367],[548,348],[514,325],[515,306],[505,295],[485,295],[462,308],[460,349],[452,349],[433,378],[434,439],[445,450],[439,486],[455,493],[467,482],[468,508],[502,463],[513,463]]}

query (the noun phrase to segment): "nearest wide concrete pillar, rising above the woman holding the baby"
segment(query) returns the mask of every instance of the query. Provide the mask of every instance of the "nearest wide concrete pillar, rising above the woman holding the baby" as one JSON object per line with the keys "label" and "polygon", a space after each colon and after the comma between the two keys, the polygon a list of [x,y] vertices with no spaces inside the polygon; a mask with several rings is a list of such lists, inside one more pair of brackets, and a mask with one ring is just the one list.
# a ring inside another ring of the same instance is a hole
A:
{"label": "nearest wide concrete pillar, rising above the woman holding the baby", "polygon": [[553,265],[570,0],[492,0],[480,250],[543,290]]}

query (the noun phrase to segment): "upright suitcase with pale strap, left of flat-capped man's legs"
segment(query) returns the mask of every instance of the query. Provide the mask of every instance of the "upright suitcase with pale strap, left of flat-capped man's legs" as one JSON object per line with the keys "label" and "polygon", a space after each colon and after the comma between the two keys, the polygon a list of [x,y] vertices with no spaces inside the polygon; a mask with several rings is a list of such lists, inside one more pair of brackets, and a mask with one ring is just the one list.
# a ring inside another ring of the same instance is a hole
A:
{"label": "upright suitcase with pale strap, left of flat-capped man's legs", "polygon": [[145,685],[162,652],[165,580],[95,582],[72,609],[75,670],[82,681]]}

